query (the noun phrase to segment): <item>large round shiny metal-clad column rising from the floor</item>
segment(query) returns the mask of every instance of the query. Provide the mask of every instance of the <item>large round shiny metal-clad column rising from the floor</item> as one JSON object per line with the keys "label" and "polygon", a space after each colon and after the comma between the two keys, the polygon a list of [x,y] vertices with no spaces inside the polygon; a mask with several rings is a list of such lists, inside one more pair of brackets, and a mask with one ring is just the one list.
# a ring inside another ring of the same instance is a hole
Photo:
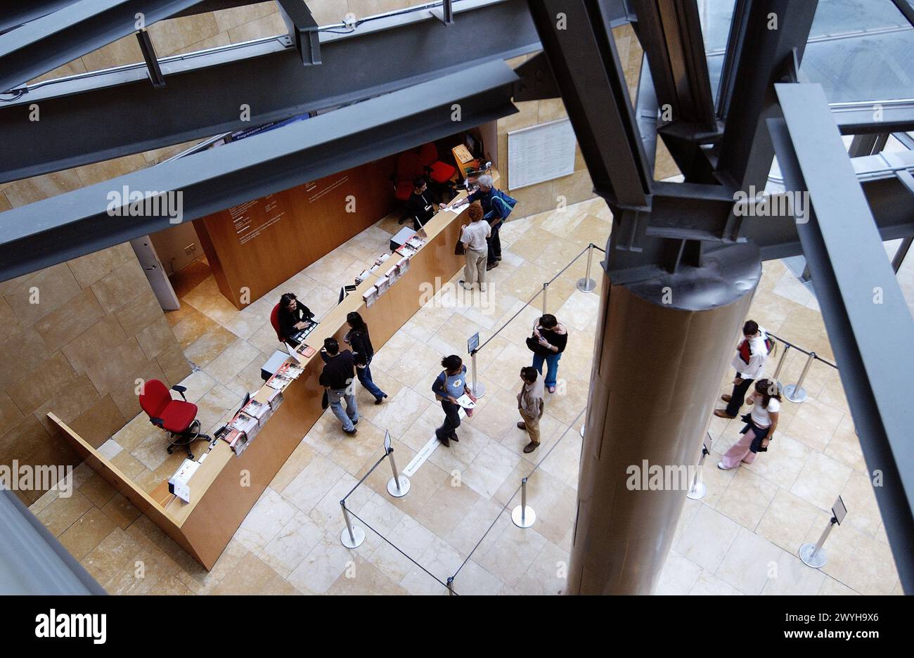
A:
{"label": "large round shiny metal-clad column rising from the floor", "polygon": [[606,274],[569,593],[654,591],[688,481],[679,477],[675,491],[632,490],[630,466],[640,473],[646,460],[678,477],[696,463],[760,274],[759,251],[749,244],[647,281]]}

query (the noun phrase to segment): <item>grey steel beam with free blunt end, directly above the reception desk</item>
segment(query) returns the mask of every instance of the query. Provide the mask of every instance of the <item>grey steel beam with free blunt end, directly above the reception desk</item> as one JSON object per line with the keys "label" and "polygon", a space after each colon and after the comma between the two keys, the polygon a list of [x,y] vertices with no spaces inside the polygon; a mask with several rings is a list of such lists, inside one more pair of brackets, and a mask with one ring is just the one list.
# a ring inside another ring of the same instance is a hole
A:
{"label": "grey steel beam with free blunt end, directly above the reception desk", "polygon": [[[123,190],[160,197],[180,192],[181,220],[204,217],[514,113],[510,99],[516,80],[504,61],[464,68],[218,149],[7,210],[0,213],[0,281],[173,226],[163,207],[136,217],[109,214],[109,205],[120,207],[112,193],[126,204]],[[454,120],[455,105],[460,121]],[[170,198],[176,203],[178,196]]]}

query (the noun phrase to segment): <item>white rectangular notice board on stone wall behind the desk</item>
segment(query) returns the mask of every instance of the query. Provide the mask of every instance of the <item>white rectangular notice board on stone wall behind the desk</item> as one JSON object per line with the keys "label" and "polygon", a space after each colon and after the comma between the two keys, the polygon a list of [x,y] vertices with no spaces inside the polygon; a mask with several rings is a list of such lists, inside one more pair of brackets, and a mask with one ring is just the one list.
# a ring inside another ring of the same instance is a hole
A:
{"label": "white rectangular notice board on stone wall behind the desk", "polygon": [[508,133],[508,189],[574,174],[575,137],[568,119]]}

